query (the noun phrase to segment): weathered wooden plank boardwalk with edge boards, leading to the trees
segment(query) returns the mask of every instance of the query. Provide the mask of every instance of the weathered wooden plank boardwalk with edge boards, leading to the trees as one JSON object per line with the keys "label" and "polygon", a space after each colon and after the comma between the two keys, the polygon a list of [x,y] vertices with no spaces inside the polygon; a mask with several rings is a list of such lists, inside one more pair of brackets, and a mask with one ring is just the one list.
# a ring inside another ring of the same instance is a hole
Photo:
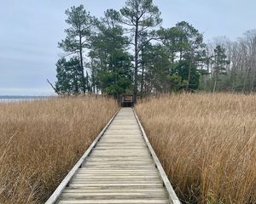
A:
{"label": "weathered wooden plank boardwalk with edge boards, leading to the trees", "polygon": [[180,202],[136,114],[122,108],[46,203]]}

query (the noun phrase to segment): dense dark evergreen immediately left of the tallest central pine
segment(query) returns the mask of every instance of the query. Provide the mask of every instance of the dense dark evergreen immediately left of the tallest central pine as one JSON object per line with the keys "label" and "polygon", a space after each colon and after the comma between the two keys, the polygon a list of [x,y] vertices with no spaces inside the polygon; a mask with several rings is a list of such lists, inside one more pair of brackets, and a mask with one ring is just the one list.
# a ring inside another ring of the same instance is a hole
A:
{"label": "dense dark evergreen immediately left of the tallest central pine", "polygon": [[118,98],[131,88],[131,56],[128,39],[120,26],[120,14],[109,9],[105,17],[97,22],[98,33],[91,37],[90,57],[94,61],[92,72],[103,93]]}

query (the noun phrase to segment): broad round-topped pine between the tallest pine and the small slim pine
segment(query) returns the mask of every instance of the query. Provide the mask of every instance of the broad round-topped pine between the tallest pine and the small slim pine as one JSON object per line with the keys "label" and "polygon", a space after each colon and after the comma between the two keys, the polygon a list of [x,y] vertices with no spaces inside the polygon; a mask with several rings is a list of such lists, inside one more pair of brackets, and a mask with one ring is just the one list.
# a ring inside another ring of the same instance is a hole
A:
{"label": "broad round-topped pine between the tallest pine and the small slim pine", "polygon": [[198,88],[198,66],[203,61],[205,47],[202,34],[185,21],[178,22],[175,27],[169,29],[161,28],[157,33],[169,54],[172,74],[187,82],[187,90]]}

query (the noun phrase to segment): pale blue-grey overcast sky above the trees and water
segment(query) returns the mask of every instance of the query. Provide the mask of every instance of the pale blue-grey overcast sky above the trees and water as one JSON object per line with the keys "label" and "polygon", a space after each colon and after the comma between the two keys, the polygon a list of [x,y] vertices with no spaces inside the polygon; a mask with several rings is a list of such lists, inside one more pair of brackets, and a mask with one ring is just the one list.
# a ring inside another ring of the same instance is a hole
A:
{"label": "pale blue-grey overcast sky above the trees and water", "polygon": [[[154,0],[164,27],[186,20],[205,35],[231,40],[255,29],[255,0]],[[119,9],[125,0],[0,0],[0,95],[54,94],[46,79],[55,82],[55,62],[65,37],[64,14],[84,4],[92,15]]]}

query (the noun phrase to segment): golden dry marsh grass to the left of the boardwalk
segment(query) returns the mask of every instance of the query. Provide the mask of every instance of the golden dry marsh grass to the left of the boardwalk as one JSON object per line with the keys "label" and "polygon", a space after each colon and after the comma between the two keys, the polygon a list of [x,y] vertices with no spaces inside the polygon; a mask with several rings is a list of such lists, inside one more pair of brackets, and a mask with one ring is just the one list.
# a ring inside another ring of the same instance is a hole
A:
{"label": "golden dry marsh grass to the left of the boardwalk", "polygon": [[0,103],[0,203],[44,203],[117,108],[94,97]]}

